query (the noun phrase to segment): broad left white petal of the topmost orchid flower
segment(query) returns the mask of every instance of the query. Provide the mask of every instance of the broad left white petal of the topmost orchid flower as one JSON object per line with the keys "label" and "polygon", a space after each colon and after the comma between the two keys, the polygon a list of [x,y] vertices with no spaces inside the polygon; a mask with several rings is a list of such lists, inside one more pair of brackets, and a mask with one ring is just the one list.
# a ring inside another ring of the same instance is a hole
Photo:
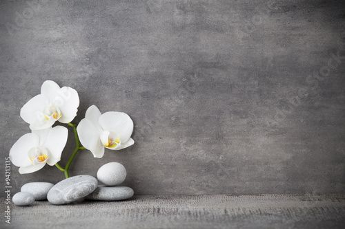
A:
{"label": "broad left white petal of the topmost orchid flower", "polygon": [[[26,102],[26,104],[21,108],[20,116],[29,124],[35,122],[36,120],[44,120],[42,111],[48,105],[49,100],[47,96],[34,96],[34,98]],[[40,111],[41,113],[37,113],[37,111]]]}

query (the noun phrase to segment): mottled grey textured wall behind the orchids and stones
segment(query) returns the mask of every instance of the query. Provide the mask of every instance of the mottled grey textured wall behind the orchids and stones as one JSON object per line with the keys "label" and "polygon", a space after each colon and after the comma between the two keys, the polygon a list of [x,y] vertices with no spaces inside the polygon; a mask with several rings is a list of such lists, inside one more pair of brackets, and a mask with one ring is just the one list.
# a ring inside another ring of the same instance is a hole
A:
{"label": "mottled grey textured wall behind the orchids and stones", "polygon": [[[124,111],[135,145],[95,159],[136,194],[345,192],[344,1],[1,1],[1,184],[44,80]],[[337,57],[339,56],[339,57]],[[62,166],[75,147],[63,151]],[[46,166],[19,175],[59,182]],[[1,195],[4,195],[1,193]]]}

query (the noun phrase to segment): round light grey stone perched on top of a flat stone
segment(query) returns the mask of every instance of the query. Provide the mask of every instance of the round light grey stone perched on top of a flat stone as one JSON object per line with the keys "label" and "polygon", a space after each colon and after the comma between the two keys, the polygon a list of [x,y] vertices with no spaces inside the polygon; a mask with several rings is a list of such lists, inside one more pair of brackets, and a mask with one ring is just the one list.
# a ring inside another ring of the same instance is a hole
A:
{"label": "round light grey stone perched on top of a flat stone", "polygon": [[97,179],[106,186],[121,184],[126,179],[126,168],[118,162],[104,164],[97,171]]}

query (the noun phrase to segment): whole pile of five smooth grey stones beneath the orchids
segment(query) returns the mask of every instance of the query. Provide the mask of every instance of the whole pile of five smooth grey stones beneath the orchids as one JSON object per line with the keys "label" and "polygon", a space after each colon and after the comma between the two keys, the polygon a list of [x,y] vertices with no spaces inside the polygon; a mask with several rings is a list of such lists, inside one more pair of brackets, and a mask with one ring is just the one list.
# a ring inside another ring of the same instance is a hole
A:
{"label": "whole pile of five smooth grey stones beneath the orchids", "polygon": [[[90,175],[77,175],[63,179],[57,184],[31,182],[21,187],[21,192],[12,197],[14,204],[28,206],[35,200],[46,200],[50,204],[68,204],[83,199],[119,201],[134,195],[132,188],[118,186],[126,179],[126,168],[117,162],[104,164],[97,171],[97,179]],[[101,182],[103,185],[97,185]]]}

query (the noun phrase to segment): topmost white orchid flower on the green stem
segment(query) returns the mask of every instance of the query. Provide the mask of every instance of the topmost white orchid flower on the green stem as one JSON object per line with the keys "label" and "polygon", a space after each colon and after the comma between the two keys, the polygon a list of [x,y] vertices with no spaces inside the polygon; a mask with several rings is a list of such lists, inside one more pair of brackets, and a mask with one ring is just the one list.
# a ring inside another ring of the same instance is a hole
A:
{"label": "topmost white orchid flower on the green stem", "polygon": [[60,88],[52,80],[46,80],[41,94],[34,96],[21,108],[21,118],[30,124],[30,129],[46,129],[57,120],[71,122],[79,107],[78,92],[71,87]]}

